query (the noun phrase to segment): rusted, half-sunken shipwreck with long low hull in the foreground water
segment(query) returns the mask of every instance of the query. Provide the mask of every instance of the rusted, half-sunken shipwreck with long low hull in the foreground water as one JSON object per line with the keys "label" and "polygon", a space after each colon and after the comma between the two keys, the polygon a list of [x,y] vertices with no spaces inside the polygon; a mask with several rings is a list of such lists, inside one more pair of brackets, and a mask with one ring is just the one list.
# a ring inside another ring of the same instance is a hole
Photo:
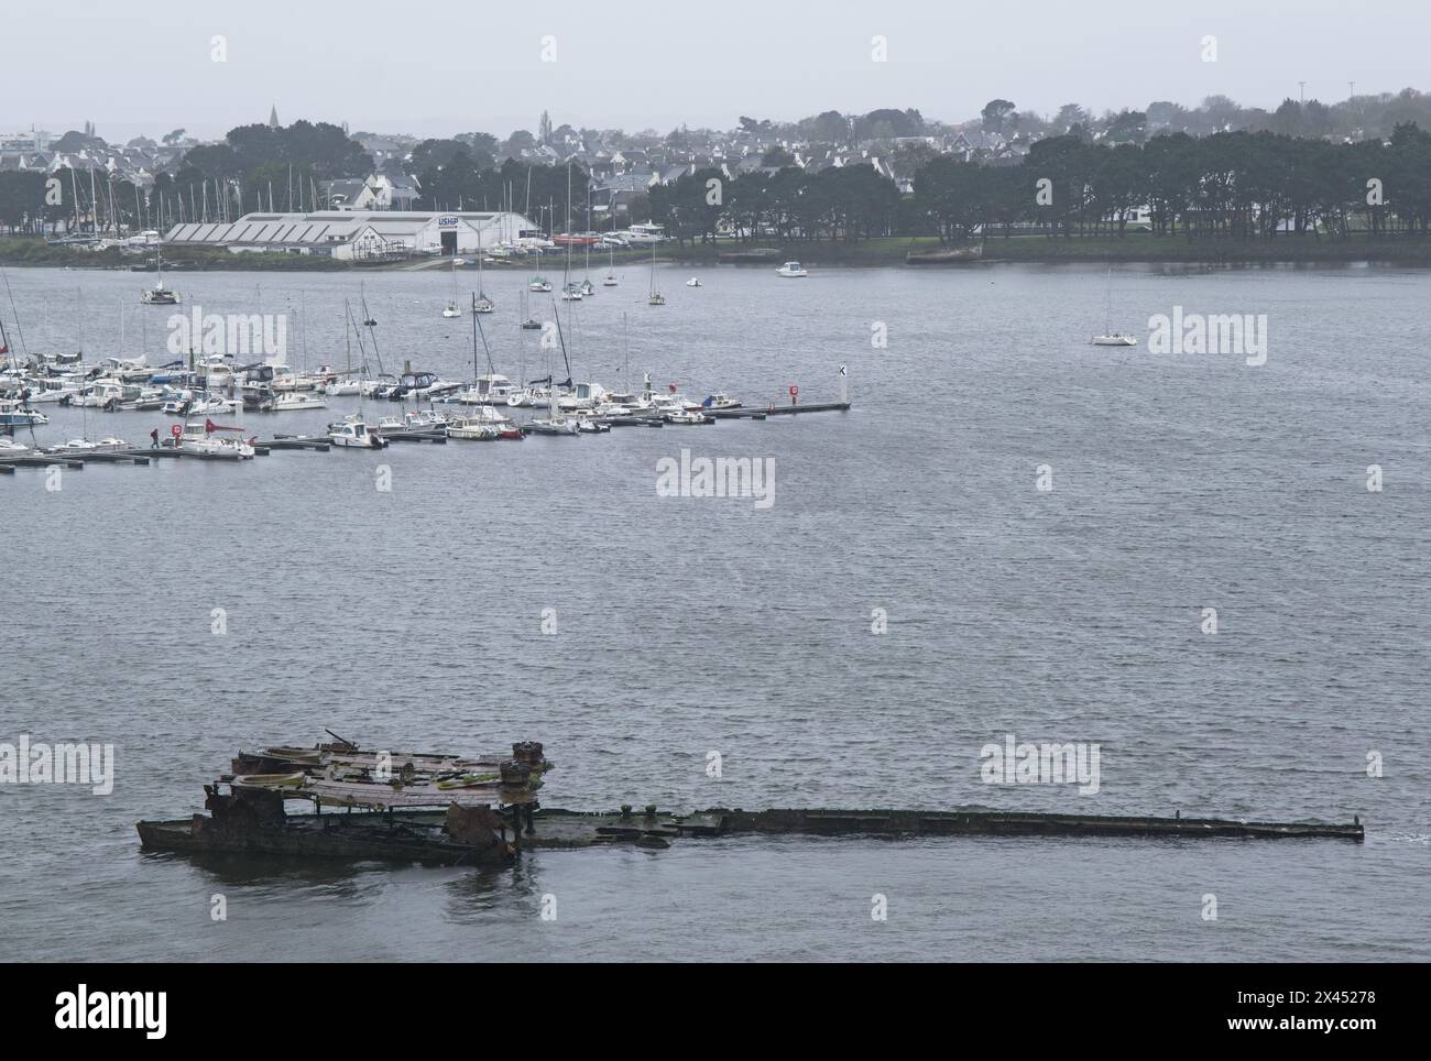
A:
{"label": "rusted, half-sunken shipwreck with long low hull in the foreground water", "polygon": [[[240,752],[232,772],[205,785],[209,815],[139,822],[146,851],[292,855],[349,861],[492,865],[525,849],[634,844],[665,848],[710,837],[1115,837],[1228,839],[1347,839],[1361,842],[1359,819],[1256,822],[1017,814],[986,808],[657,812],[654,805],[610,812],[542,809],[537,791],[551,769],[542,745],[512,755],[362,752],[338,741],[313,749]],[[228,794],[223,788],[228,786]],[[313,808],[289,814],[290,801]],[[326,808],[326,809],[325,809]]]}

